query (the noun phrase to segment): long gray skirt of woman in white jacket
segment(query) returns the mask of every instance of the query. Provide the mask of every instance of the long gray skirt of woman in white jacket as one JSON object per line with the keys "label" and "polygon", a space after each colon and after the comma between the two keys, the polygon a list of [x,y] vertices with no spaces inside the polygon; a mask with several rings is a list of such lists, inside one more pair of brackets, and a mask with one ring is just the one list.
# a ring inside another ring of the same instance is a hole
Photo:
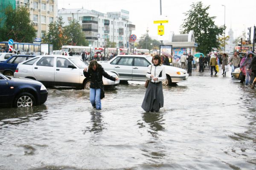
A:
{"label": "long gray skirt of woman in white jacket", "polygon": [[148,88],[141,107],[146,111],[159,111],[163,107],[163,86],[162,82],[154,84],[149,82]]}

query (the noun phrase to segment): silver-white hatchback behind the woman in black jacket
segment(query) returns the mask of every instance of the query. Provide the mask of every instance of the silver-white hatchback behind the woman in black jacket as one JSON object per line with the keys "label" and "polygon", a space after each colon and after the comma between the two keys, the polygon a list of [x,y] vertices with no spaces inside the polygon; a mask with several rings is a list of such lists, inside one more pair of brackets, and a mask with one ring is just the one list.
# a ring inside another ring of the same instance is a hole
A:
{"label": "silver-white hatchback behind the woman in black jacket", "polygon": [[[42,82],[46,86],[70,86],[89,89],[90,80],[84,77],[83,70],[87,63],[72,56],[42,55],[18,64],[15,77],[30,78]],[[109,75],[116,74],[106,71]],[[116,86],[118,81],[103,77],[105,86]]]}

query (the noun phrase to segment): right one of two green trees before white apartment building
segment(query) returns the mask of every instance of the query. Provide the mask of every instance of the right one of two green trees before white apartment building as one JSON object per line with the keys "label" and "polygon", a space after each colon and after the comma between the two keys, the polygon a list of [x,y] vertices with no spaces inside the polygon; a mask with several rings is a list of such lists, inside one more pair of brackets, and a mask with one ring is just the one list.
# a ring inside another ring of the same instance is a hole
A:
{"label": "right one of two green trees before white apartment building", "polygon": [[77,20],[71,20],[68,26],[64,27],[64,35],[67,36],[67,43],[73,46],[88,46],[82,27]]}

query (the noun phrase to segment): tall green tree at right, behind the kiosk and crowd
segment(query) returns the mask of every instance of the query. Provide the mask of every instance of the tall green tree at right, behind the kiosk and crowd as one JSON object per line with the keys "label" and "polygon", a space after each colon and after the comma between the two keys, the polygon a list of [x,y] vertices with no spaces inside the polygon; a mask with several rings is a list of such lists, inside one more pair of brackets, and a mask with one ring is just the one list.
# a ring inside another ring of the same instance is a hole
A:
{"label": "tall green tree at right, behind the kiosk and crowd", "polygon": [[186,19],[181,25],[181,34],[188,34],[193,30],[195,42],[198,43],[197,51],[208,54],[218,48],[218,35],[223,35],[224,26],[216,26],[215,17],[210,17],[207,10],[210,6],[203,6],[202,2],[192,3],[189,11],[185,13]]}

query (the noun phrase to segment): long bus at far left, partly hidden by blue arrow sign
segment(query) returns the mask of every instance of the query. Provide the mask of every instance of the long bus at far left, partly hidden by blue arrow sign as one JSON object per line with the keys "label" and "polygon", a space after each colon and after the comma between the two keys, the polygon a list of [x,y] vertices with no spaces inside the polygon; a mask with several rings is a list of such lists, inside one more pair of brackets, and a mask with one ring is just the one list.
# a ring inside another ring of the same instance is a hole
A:
{"label": "long bus at far left, partly hidden by blue arrow sign", "polygon": [[[35,43],[13,43],[13,49],[14,51],[20,51],[20,54],[35,54],[40,55],[41,54],[41,44],[35,44]],[[5,49],[6,52],[9,50],[8,41],[0,42],[0,49]],[[49,45],[49,51],[50,54],[52,54],[53,46]]]}

